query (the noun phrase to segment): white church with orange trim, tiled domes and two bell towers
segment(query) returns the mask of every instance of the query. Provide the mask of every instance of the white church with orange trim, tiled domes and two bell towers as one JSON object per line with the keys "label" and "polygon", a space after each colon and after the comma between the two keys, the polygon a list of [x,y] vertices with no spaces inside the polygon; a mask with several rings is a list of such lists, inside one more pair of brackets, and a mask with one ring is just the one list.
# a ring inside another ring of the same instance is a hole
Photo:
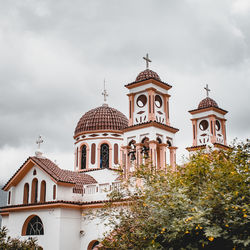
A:
{"label": "white church with orange trim, tiled domes and two bell towers", "polygon": [[[0,209],[11,237],[34,236],[45,250],[87,250],[98,245],[107,230],[86,211],[99,209],[107,191],[119,188],[136,166],[146,159],[159,169],[175,169],[175,134],[170,122],[172,86],[148,69],[128,89],[129,117],[105,103],[86,112],[74,131],[74,169],[64,170],[39,150],[20,166],[3,187],[7,206]],[[213,145],[227,148],[227,111],[208,96],[192,115],[193,144],[187,150]],[[37,143],[40,145],[42,139]],[[73,164],[73,163],[72,163]],[[121,177],[121,174],[123,177]]]}

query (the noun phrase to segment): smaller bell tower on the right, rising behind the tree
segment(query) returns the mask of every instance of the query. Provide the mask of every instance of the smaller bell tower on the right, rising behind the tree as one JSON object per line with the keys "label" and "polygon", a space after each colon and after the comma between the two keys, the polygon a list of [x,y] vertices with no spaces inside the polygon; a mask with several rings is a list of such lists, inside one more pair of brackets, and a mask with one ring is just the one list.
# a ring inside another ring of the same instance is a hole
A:
{"label": "smaller bell tower on the right, rising behind the tree", "polygon": [[192,115],[193,145],[188,151],[204,149],[211,145],[215,148],[228,148],[226,140],[227,111],[219,108],[218,104],[209,97],[208,85],[204,88],[207,97],[203,99],[197,109],[190,110]]}

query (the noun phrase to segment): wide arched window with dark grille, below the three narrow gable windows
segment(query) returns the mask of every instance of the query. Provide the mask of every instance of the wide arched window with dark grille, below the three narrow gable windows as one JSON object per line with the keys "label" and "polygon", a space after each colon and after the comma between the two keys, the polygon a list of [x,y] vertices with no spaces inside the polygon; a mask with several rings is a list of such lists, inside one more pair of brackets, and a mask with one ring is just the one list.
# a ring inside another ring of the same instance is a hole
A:
{"label": "wide arched window with dark grille, below the three narrow gable windows", "polygon": [[37,215],[29,216],[23,224],[22,235],[44,235],[43,223]]}

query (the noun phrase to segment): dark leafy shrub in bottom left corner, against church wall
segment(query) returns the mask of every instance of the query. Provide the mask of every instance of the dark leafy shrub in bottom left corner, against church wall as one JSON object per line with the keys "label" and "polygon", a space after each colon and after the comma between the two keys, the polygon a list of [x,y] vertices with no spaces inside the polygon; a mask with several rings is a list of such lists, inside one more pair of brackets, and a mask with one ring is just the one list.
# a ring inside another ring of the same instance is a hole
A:
{"label": "dark leafy shrub in bottom left corner, against church wall", "polygon": [[7,236],[7,228],[0,228],[0,250],[42,250],[43,248],[37,245],[37,240],[28,238],[20,240]]}

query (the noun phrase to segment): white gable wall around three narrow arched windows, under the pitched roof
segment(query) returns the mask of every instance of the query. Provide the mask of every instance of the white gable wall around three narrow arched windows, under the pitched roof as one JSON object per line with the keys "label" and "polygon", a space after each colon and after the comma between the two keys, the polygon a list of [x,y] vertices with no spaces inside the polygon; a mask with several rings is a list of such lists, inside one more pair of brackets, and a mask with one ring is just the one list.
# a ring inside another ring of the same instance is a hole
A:
{"label": "white gable wall around three narrow arched windows, under the pitched roof", "polygon": [[[36,169],[36,175],[33,175],[33,170]],[[11,205],[22,204],[23,203],[23,190],[25,183],[29,183],[29,203],[31,202],[31,187],[32,180],[34,178],[38,179],[38,202],[40,201],[40,189],[41,182],[44,180],[46,182],[46,201],[53,200],[53,185],[55,184],[49,175],[41,170],[39,167],[34,166],[31,170],[23,177],[23,179],[17,184],[16,187],[12,187],[12,199]]]}

